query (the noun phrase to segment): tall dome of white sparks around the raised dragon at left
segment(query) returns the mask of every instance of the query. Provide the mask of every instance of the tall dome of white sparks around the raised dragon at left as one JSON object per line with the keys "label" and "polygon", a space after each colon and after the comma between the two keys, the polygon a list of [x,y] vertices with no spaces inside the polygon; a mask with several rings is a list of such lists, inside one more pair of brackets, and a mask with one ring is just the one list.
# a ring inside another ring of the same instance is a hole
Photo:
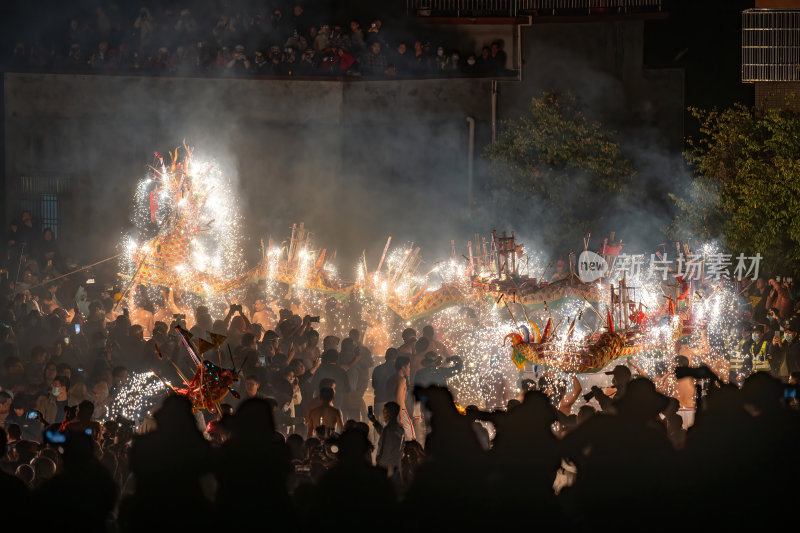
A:
{"label": "tall dome of white sparks around the raised dragon at left", "polygon": [[[190,300],[186,303],[221,310],[221,298],[196,293],[217,295],[222,283],[244,271],[238,195],[219,168],[193,159],[188,150],[177,157],[177,165],[165,159],[156,159],[136,188],[131,216],[134,228],[122,243],[122,274],[133,276],[146,259],[144,269],[155,264],[163,269],[162,277],[173,276],[170,288],[185,293]],[[163,246],[153,249],[158,237]],[[149,285],[150,299],[163,305],[152,285],[166,283]]]}

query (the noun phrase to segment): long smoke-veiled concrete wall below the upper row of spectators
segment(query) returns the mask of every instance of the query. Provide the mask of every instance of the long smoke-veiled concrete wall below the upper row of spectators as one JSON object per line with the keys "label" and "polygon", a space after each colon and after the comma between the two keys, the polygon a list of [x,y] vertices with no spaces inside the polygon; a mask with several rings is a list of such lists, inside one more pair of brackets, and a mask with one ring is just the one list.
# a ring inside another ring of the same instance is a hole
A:
{"label": "long smoke-veiled concrete wall below the upper row of spectators", "polygon": [[61,233],[96,236],[109,255],[153,151],[183,139],[238,179],[254,242],[293,221],[344,253],[389,232],[413,239],[425,233],[415,213],[450,224],[445,204],[466,203],[465,118],[488,124],[490,110],[484,80],[33,74],[6,74],[5,104],[10,215],[20,176],[71,176]]}

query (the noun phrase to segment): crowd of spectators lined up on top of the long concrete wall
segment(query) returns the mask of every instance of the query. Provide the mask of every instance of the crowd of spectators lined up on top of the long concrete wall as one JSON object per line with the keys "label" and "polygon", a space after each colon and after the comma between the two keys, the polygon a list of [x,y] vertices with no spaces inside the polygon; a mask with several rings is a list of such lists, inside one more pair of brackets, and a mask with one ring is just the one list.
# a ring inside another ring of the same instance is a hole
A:
{"label": "crowd of spectators lined up on top of the long concrete wall", "polygon": [[[212,14],[213,13],[213,14]],[[381,18],[331,20],[302,5],[289,10],[229,8],[224,13],[97,7],[63,31],[19,41],[12,69],[203,76],[497,76],[506,73],[503,42],[481,50],[393,31]],[[420,33],[422,30],[420,30]]]}

